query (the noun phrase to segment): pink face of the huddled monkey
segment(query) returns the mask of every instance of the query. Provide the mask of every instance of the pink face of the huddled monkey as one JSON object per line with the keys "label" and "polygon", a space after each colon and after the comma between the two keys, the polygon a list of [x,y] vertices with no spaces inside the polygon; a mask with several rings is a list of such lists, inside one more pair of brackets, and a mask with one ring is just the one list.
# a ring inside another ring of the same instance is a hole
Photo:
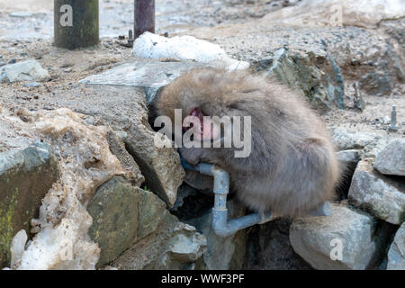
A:
{"label": "pink face of the huddled monkey", "polygon": [[199,108],[193,108],[184,118],[183,131],[192,132],[194,138],[202,141],[220,138],[220,125],[211,121],[211,117],[204,115]]}

